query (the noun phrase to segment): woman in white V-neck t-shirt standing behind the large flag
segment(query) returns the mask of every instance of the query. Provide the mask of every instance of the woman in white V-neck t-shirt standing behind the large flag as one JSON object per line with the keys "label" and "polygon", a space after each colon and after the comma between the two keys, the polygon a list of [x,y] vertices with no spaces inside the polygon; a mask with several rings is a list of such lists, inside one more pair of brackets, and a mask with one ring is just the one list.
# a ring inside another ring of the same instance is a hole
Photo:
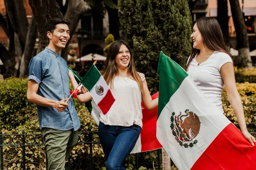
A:
{"label": "woman in white V-neck t-shirt standing behind the large flag", "polygon": [[193,23],[193,48],[186,71],[198,88],[222,111],[221,92],[225,85],[230,104],[241,132],[254,146],[255,138],[248,132],[241,98],[236,88],[233,60],[227,54],[221,27],[212,17],[202,17]]}

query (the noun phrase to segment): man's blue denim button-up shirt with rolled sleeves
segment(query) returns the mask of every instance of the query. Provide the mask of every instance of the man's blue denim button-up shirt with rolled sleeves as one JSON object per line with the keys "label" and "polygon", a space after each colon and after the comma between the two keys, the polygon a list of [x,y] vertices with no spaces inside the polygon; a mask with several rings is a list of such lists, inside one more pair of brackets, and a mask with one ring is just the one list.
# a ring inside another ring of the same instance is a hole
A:
{"label": "man's blue denim button-up shirt with rolled sleeves", "polygon": [[[29,63],[28,79],[38,83],[37,94],[47,99],[61,101],[70,96],[69,77],[66,61],[55,51],[45,48]],[[65,111],[37,105],[40,129],[48,127],[57,130],[78,130],[79,117],[73,100],[68,101]]]}

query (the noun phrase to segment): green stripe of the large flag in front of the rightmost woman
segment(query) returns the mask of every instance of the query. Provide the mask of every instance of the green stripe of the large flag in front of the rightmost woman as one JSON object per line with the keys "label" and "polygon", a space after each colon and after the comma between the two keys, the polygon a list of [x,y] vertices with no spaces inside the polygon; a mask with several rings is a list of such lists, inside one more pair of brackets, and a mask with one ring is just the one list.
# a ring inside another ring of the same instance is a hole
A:
{"label": "green stripe of the large flag in front of the rightmost woman", "polygon": [[186,71],[175,61],[160,52],[157,74],[160,76],[159,82],[159,102],[157,119],[163,108],[169,102],[172,95],[180,87],[180,84],[188,76]]}

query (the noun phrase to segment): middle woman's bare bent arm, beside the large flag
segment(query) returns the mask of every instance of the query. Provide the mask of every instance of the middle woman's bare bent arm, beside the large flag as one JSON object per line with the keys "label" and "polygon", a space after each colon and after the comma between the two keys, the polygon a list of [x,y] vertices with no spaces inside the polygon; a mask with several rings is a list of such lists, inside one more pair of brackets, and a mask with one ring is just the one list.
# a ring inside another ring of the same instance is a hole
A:
{"label": "middle woman's bare bent arm, beside the large flag", "polygon": [[143,93],[141,95],[142,101],[149,111],[154,110],[158,106],[158,98],[152,100],[146,80],[143,81]]}

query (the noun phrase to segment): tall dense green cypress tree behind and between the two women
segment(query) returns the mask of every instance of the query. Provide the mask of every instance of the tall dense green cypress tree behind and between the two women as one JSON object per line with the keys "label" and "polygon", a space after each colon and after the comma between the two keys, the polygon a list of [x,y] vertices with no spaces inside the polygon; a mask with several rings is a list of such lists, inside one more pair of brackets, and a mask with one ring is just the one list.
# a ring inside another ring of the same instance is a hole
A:
{"label": "tall dense green cypress tree behind and between the two women", "polygon": [[119,0],[122,35],[132,48],[138,71],[145,74],[152,93],[160,51],[185,66],[191,50],[188,0]]}

